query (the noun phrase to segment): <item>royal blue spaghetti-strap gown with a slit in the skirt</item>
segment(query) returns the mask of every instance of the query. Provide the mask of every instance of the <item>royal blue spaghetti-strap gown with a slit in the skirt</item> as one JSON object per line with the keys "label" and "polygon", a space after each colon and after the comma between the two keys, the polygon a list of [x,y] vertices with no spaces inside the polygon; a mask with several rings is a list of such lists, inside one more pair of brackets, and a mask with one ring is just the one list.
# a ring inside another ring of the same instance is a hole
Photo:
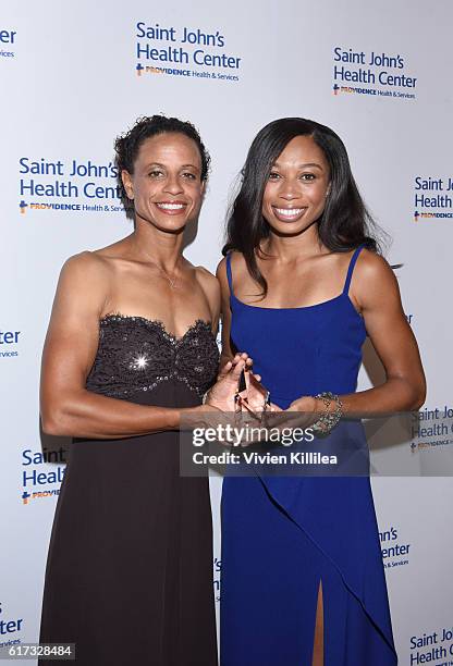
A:
{"label": "royal blue spaghetti-strap gown with a slit in the skirt", "polygon": [[[303,308],[240,301],[226,257],[232,341],[280,407],[356,391],[366,330],[348,289],[360,249],[342,294]],[[320,581],[325,666],[394,666],[369,477],[225,477],[221,666],[311,666]]]}

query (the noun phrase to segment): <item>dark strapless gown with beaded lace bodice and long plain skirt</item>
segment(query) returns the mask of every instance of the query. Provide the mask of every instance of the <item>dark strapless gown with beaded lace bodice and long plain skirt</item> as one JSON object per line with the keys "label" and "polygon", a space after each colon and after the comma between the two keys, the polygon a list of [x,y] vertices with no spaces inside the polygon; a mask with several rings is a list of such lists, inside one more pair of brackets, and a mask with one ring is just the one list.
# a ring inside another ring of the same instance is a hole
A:
{"label": "dark strapless gown with beaded lace bodice and long plain skirt", "polygon": [[[100,321],[87,388],[191,407],[212,384],[218,361],[201,320],[175,338],[160,322],[110,314]],[[74,441],[40,641],[76,643],[84,666],[215,666],[211,538],[208,479],[180,477],[176,432]]]}

